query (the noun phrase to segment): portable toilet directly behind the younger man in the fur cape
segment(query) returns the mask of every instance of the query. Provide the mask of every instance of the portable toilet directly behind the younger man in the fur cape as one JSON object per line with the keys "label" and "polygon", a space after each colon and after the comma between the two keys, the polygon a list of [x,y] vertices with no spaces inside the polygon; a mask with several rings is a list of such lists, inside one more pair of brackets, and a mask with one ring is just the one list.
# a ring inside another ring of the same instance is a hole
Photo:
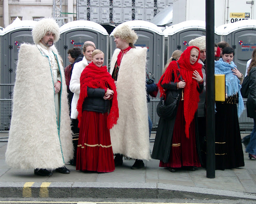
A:
{"label": "portable toilet directly behind the younger man in the fur cape", "polygon": [[[151,77],[157,83],[162,76],[162,69],[164,67],[164,34],[162,30],[155,24],[142,20],[124,22],[115,29],[122,25],[130,26],[137,33],[138,40],[134,44],[135,46],[148,48],[147,68]],[[110,58],[112,58],[114,50],[116,49],[113,35],[115,29],[110,34]],[[148,105],[148,114],[152,120],[153,128],[157,126],[159,120],[156,114],[156,106],[157,103],[153,101]]]}

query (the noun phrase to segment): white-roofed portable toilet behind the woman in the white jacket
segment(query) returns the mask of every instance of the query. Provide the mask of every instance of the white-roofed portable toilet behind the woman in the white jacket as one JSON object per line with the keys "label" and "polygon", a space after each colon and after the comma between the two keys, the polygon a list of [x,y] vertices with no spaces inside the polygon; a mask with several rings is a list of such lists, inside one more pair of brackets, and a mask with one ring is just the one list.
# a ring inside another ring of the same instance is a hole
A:
{"label": "white-roofed portable toilet behind the woman in the white jacket", "polygon": [[72,47],[83,49],[85,41],[94,42],[96,49],[104,53],[104,65],[108,67],[108,32],[100,24],[86,20],[69,22],[60,27],[60,39],[56,46],[64,67],[69,65],[68,50]]}

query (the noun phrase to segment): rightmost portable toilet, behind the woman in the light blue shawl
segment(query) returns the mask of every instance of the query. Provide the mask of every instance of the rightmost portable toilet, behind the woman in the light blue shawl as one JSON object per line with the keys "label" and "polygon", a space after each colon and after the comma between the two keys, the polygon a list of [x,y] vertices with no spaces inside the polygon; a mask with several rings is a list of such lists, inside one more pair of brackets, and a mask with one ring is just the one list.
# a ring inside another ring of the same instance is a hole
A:
{"label": "rightmost portable toilet, behind the woman in the light blue shawl", "polygon": [[224,24],[218,29],[222,32],[223,41],[228,42],[234,49],[234,63],[238,70],[245,75],[246,63],[251,59],[252,51],[256,48],[256,20]]}

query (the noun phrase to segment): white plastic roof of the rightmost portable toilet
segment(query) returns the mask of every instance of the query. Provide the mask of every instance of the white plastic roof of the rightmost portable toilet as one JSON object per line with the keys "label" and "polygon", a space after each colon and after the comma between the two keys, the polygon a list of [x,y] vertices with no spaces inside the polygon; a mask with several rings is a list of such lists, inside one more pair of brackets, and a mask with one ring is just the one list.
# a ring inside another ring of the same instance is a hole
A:
{"label": "white plastic roof of the rightmost portable toilet", "polygon": [[256,28],[256,20],[241,20],[235,23],[230,24],[224,24],[221,26],[218,26],[218,31],[221,32],[222,35],[228,35],[229,33],[232,33],[233,31],[244,29],[244,28]]}

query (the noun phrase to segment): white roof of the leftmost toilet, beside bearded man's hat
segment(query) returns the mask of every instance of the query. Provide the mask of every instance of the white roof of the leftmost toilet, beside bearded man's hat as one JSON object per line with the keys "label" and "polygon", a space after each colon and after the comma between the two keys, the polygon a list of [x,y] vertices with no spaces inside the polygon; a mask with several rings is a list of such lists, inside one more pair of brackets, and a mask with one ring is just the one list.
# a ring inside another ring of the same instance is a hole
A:
{"label": "white roof of the leftmost toilet, beside bearded man's hat", "polygon": [[5,35],[6,33],[9,33],[11,31],[14,31],[16,29],[22,29],[22,28],[33,28],[36,25],[36,21],[32,20],[25,20],[21,21],[18,17],[10,24],[9,26],[6,26],[6,28],[3,29],[3,31],[0,33],[0,35]]}

